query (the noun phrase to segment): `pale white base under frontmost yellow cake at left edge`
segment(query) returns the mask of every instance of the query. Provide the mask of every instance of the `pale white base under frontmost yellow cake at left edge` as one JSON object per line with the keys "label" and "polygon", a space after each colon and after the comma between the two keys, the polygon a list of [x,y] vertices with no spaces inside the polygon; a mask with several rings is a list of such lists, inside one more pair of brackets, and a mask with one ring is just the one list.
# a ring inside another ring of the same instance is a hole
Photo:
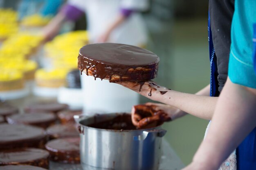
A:
{"label": "pale white base under frontmost yellow cake at left edge", "polygon": [[0,99],[1,100],[14,100],[18,98],[23,98],[29,95],[29,88],[25,87],[24,89],[20,90],[11,90],[6,92],[0,92]]}

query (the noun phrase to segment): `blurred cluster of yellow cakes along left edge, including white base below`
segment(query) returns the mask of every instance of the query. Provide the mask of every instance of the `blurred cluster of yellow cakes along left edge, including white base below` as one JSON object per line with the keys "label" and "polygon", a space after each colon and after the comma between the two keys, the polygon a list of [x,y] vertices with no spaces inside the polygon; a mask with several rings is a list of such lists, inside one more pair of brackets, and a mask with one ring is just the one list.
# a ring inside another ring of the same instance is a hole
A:
{"label": "blurred cluster of yellow cakes along left edge, including white base below", "polygon": [[17,33],[6,39],[0,48],[0,97],[19,98],[27,95],[25,83],[34,80],[37,63],[28,58],[40,45],[42,37]]}

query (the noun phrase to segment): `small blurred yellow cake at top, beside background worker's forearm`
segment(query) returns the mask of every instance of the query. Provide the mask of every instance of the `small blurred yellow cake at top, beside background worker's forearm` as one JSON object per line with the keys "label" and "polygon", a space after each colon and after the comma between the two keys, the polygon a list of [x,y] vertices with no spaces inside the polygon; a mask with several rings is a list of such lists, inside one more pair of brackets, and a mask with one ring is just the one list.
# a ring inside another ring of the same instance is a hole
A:
{"label": "small blurred yellow cake at top, beside background worker's forearm", "polygon": [[24,17],[21,21],[21,25],[28,27],[40,27],[47,25],[51,19],[52,16],[43,17],[40,14],[34,14]]}

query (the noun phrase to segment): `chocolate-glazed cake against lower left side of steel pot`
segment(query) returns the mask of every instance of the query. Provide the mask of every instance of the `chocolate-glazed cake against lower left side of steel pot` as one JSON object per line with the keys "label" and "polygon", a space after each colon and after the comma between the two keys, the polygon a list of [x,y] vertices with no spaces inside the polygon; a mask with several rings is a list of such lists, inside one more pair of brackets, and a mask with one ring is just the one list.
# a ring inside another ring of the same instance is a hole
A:
{"label": "chocolate-glazed cake against lower left side of steel pot", "polygon": [[62,163],[80,163],[79,137],[54,139],[45,145],[50,160]]}

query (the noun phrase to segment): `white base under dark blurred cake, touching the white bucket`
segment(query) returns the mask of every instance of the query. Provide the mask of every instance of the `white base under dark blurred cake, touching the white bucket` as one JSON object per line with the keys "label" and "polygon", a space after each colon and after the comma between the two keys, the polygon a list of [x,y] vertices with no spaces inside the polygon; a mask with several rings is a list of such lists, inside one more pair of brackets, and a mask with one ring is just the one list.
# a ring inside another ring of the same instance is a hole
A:
{"label": "white base under dark blurred cake, touching the white bucket", "polygon": [[58,92],[57,100],[59,103],[69,105],[70,109],[83,109],[82,89],[61,87]]}

